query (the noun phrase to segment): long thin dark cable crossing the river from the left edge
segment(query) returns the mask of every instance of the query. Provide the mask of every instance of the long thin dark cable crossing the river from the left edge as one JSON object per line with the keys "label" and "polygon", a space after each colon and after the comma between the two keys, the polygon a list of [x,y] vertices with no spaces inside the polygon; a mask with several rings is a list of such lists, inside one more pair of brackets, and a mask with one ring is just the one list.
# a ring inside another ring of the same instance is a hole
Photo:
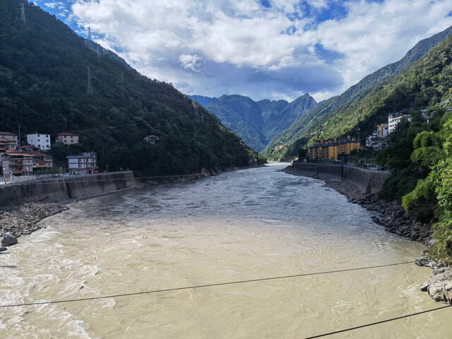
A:
{"label": "long thin dark cable crossing the river from the left edge", "polygon": [[163,290],[150,290],[150,291],[143,291],[143,292],[122,293],[120,295],[105,295],[105,296],[100,296],[100,297],[86,297],[86,298],[78,298],[78,299],[55,300],[55,301],[50,301],[50,302],[29,302],[29,303],[24,303],[24,304],[0,305],[0,309],[6,309],[6,308],[9,308],[9,307],[25,307],[25,306],[35,306],[35,305],[62,304],[62,303],[66,303],[66,302],[84,302],[84,301],[98,300],[98,299],[108,299],[108,298],[117,298],[117,297],[131,297],[131,296],[135,296],[135,295],[150,295],[150,294],[153,294],[153,293],[174,292],[174,291],[181,291],[181,290],[190,290],[190,289],[193,289],[193,288],[214,287],[214,286],[224,286],[224,285],[237,285],[237,284],[243,284],[243,283],[256,283],[256,282],[259,282],[259,281],[280,280],[280,279],[288,279],[288,278],[306,277],[306,276],[311,276],[311,275],[351,272],[351,271],[354,271],[354,270],[369,270],[371,268],[382,268],[382,267],[388,267],[388,266],[400,266],[400,265],[406,265],[408,263],[415,263],[415,261],[406,261],[406,262],[403,262],[403,263],[388,263],[386,265],[367,266],[367,267],[360,267],[360,268],[348,268],[348,269],[344,269],[344,270],[327,270],[327,271],[315,272],[315,273],[301,273],[301,274],[295,274],[295,275],[282,275],[282,276],[270,277],[270,278],[238,280],[238,281],[230,281],[230,282],[227,282],[227,283],[213,283],[213,284],[205,284],[205,285],[186,286],[186,287],[174,287],[174,288],[166,288],[166,289],[163,289]]}

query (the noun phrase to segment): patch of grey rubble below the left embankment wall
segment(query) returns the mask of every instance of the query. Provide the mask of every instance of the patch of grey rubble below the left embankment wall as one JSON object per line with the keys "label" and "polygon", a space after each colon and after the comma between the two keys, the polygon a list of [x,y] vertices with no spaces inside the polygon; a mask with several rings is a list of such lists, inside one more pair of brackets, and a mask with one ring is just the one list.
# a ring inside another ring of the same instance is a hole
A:
{"label": "patch of grey rubble below the left embankment wall", "polygon": [[0,238],[3,246],[10,246],[13,238],[22,237],[39,230],[41,220],[67,210],[59,203],[22,203],[0,210]]}

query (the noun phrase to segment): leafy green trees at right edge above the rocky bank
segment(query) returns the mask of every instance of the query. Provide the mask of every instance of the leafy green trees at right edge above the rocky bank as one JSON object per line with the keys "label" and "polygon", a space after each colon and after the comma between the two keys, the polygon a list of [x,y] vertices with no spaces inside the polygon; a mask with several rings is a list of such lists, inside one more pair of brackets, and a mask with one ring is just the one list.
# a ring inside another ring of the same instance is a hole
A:
{"label": "leafy green trees at right edge above the rocky bank", "polygon": [[410,214],[434,222],[437,242],[429,254],[452,263],[452,112],[435,109],[429,123],[420,114],[414,118],[398,126],[391,145],[377,155],[392,169],[380,196],[402,198]]}

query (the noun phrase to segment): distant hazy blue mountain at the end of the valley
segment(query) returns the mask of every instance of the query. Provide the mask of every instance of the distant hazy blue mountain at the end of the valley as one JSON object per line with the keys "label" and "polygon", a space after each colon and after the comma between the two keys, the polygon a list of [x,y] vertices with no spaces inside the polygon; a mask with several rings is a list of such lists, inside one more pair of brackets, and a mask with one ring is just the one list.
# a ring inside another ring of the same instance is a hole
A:
{"label": "distant hazy blue mountain at the end of the valley", "polygon": [[[206,102],[202,104],[197,98]],[[222,95],[208,98],[191,96],[210,112],[215,114],[222,124],[241,136],[244,142],[254,150],[261,151],[281,131],[317,103],[309,94],[302,95],[293,102],[285,100],[261,100],[255,102],[243,95]]]}

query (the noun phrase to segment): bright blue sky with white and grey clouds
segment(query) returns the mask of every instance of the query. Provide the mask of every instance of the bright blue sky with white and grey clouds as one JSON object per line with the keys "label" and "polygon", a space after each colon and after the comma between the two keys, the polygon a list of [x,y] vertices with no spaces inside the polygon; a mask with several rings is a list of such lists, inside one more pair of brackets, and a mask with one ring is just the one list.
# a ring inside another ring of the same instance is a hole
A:
{"label": "bright blue sky with white and grey clouds", "polygon": [[452,25],[451,0],[34,0],[189,95],[317,101]]}

